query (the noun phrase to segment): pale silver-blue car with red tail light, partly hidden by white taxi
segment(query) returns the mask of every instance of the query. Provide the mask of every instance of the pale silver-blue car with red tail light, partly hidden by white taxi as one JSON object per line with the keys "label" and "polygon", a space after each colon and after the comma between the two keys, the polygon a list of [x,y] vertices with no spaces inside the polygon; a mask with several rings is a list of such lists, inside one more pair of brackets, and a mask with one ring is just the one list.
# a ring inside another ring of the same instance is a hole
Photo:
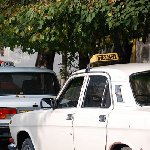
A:
{"label": "pale silver-blue car with red tail light, partly hidden by white taxi", "polygon": [[0,67],[0,139],[9,140],[12,115],[40,108],[42,98],[56,96],[60,85],[52,70]]}

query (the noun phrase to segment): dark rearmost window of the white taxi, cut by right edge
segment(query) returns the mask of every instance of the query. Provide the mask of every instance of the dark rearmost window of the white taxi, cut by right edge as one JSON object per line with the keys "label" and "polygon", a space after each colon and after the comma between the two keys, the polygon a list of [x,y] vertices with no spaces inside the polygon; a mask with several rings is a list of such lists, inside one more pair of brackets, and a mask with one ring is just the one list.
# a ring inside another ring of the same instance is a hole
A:
{"label": "dark rearmost window of the white taxi, cut by right edge", "polygon": [[141,106],[150,106],[150,71],[130,76],[134,97]]}

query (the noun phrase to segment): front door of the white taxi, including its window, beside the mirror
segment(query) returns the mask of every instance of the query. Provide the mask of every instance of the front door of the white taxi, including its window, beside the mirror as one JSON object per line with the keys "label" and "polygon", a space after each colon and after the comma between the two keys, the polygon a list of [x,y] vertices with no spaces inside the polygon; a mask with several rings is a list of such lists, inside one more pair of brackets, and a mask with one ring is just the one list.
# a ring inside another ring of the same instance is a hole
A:
{"label": "front door of the white taxi, including its window, beside the mirror", "polygon": [[[71,77],[57,96],[57,108],[46,115],[46,121],[41,130],[44,133],[44,139],[41,142],[42,150],[74,150],[73,115],[84,88],[84,80],[84,75]],[[46,137],[49,140],[45,140]]]}

